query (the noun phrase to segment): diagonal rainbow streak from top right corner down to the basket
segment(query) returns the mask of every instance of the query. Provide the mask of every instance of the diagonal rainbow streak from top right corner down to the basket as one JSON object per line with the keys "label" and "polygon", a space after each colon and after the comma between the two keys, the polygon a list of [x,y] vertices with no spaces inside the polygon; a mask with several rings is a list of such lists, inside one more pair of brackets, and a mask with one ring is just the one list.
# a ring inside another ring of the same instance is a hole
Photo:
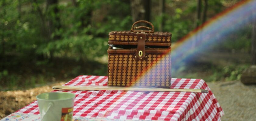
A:
{"label": "diagonal rainbow streak from top right corner down to the basket", "polygon": [[[188,63],[198,52],[207,50],[213,43],[224,41],[227,35],[244,27],[254,18],[256,18],[256,0],[241,1],[177,41],[172,45],[172,77],[173,71]],[[166,54],[171,55],[171,52]],[[159,60],[155,66],[159,66],[161,61],[165,61],[165,58]],[[152,67],[144,74],[151,72],[155,72]],[[160,70],[159,73],[164,73],[164,70]]]}

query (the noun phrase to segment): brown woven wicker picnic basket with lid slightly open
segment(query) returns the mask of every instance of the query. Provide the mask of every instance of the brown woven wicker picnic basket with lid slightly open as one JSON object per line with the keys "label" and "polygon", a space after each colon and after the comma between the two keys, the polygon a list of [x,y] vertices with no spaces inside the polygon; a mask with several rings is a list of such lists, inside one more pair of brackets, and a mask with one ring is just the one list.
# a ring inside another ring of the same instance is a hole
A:
{"label": "brown woven wicker picnic basket with lid slightly open", "polygon": [[[146,26],[134,27],[137,23]],[[137,29],[147,30],[137,30]],[[171,80],[171,37],[154,32],[148,21],[137,21],[130,31],[111,31],[108,44],[108,85],[169,88]]]}

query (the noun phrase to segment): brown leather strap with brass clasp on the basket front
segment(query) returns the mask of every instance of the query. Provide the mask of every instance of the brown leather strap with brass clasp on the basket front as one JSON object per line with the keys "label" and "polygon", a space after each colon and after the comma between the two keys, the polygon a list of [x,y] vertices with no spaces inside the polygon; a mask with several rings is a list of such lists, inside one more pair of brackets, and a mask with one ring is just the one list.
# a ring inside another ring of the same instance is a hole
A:
{"label": "brown leather strap with brass clasp on the basket front", "polygon": [[144,32],[137,33],[137,40],[138,40],[138,44],[137,44],[135,59],[141,60],[146,55],[146,52],[145,52],[146,33]]}

